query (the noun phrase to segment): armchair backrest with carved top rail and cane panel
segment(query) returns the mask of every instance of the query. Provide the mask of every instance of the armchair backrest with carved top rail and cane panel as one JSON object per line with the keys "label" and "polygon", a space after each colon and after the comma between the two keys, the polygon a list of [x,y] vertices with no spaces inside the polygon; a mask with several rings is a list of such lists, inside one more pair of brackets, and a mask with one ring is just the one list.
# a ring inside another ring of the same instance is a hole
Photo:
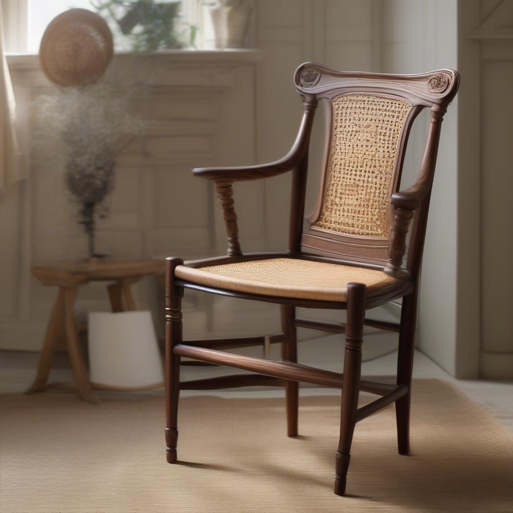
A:
{"label": "armchair backrest with carved top rail and cane panel", "polygon": [[400,185],[411,124],[424,107],[445,111],[458,74],[345,73],[305,63],[294,82],[305,106],[323,100],[327,108],[319,197],[302,250],[386,263],[393,238],[390,198]]}

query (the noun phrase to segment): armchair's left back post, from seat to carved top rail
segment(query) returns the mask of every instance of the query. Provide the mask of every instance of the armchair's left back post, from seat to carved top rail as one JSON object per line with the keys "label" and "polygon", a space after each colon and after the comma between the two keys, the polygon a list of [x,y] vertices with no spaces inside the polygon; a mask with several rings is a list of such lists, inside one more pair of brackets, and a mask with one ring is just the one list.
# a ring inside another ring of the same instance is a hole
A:
{"label": "armchair's left back post, from seat to carved top rail", "polygon": [[304,113],[298,133],[297,148],[300,160],[292,169],[292,192],[290,199],[289,231],[287,238],[287,253],[301,252],[301,236],[303,234],[303,219],[305,216],[306,179],[308,175],[308,147],[313,126],[313,117],[318,100],[314,94],[302,94]]}

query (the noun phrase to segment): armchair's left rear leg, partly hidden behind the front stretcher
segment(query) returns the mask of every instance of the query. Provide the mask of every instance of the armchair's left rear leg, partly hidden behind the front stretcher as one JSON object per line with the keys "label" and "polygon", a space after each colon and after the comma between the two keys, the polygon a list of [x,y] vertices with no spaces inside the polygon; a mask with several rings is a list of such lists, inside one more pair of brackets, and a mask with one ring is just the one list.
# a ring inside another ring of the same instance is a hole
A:
{"label": "armchair's left rear leg, partly hidden behind the front stretcher", "polygon": [[[295,317],[293,306],[281,305],[282,331],[287,337],[287,342],[282,344],[282,359],[289,362],[298,361],[298,342],[296,328],[292,325]],[[287,381],[285,383],[285,400],[287,403],[287,436],[298,436],[298,407],[299,407],[299,383]]]}

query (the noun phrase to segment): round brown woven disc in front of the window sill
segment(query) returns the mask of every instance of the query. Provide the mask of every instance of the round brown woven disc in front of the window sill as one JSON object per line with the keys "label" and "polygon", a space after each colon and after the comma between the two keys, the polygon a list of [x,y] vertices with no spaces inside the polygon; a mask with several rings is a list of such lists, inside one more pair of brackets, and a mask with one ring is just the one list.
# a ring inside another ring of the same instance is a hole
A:
{"label": "round brown woven disc in front of the window sill", "polygon": [[105,20],[87,9],[70,9],[49,23],[39,56],[53,83],[81,86],[105,72],[112,52],[112,33]]}

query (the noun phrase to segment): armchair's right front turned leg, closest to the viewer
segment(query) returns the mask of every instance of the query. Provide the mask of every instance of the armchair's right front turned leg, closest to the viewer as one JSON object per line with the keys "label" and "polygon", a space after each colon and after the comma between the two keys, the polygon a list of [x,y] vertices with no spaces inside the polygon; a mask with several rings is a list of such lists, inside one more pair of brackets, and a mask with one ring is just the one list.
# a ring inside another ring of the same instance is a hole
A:
{"label": "armchair's right front turned leg, closest to the viewer", "polygon": [[342,406],[340,411],[340,439],[337,451],[335,493],[344,495],[346,476],[349,468],[351,442],[356,410],[360,393],[362,369],[363,322],[365,319],[365,285],[349,283],[347,285],[347,322],[346,350],[344,357],[344,385],[342,387]]}

